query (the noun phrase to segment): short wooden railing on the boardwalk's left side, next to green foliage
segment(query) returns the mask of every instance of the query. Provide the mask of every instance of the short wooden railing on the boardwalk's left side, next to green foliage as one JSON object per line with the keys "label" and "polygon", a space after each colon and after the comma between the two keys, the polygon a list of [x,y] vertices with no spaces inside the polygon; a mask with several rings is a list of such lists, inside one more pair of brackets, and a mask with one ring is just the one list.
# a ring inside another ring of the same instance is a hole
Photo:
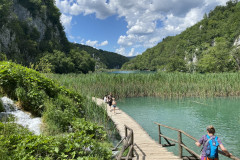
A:
{"label": "short wooden railing on the boardwalk's left side, next to green foliage", "polygon": [[[116,145],[116,147],[113,150],[116,150],[118,146],[123,143],[122,149],[120,153],[117,156],[117,160],[121,159],[132,159],[133,158],[133,130],[129,128],[128,126],[124,125],[125,127],[125,137]],[[125,151],[128,150],[127,156],[124,156],[123,154]]]}

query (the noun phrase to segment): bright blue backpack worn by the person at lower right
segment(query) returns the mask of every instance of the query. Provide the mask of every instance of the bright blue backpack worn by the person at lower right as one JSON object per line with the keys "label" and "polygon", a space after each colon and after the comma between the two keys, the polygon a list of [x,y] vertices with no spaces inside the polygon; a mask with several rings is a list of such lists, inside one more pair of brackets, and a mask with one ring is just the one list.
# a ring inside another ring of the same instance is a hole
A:
{"label": "bright blue backpack worn by the person at lower right", "polygon": [[210,137],[209,135],[207,136],[207,142],[204,144],[204,146],[207,146],[205,153],[208,158],[214,159],[218,157],[218,146],[219,143],[217,141],[218,137]]}

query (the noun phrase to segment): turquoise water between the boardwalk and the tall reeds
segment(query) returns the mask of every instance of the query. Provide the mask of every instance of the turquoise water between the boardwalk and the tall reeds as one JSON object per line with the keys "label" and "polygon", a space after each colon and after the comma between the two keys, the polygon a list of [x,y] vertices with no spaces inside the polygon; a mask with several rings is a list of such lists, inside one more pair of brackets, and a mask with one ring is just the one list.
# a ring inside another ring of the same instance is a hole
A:
{"label": "turquoise water between the boardwalk and the tall reeds", "polygon": [[[215,135],[222,140],[224,147],[240,157],[240,98],[126,98],[118,101],[118,107],[133,117],[156,141],[158,126],[154,122],[181,129],[196,139],[206,134],[208,125],[213,125]],[[176,132],[162,129],[162,133],[177,140]],[[193,140],[183,137],[183,142],[200,154],[201,148],[196,147]],[[176,155],[178,153],[177,147],[169,150]]]}

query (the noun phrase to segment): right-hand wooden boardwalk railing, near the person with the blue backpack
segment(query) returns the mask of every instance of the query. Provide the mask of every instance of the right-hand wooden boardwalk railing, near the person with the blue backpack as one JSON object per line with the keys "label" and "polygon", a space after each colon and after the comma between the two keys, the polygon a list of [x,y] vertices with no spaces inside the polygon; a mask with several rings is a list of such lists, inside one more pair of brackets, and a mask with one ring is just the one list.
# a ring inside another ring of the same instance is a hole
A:
{"label": "right-hand wooden boardwalk railing, near the person with the blue backpack", "polygon": [[[178,155],[180,158],[187,158],[187,159],[201,159],[200,158],[200,155],[195,153],[193,150],[191,150],[190,148],[188,148],[183,142],[182,142],[182,134],[184,134],[185,136],[187,136],[188,138],[194,140],[195,142],[198,141],[196,138],[192,137],[191,135],[185,133],[184,131],[182,130],[179,130],[179,129],[176,129],[176,128],[172,128],[172,127],[169,127],[169,126],[166,126],[166,125],[163,125],[163,124],[159,124],[159,123],[156,123],[155,124],[158,125],[158,132],[159,132],[159,144],[161,144],[163,147],[170,147],[170,146],[175,146],[175,144],[172,144],[170,143],[169,141],[172,141],[172,142],[175,142],[175,143],[178,143]],[[174,131],[177,131],[178,132],[178,140],[175,140],[175,139],[172,139],[172,138],[169,138],[167,136],[164,136],[161,132],[161,126],[162,127],[165,127],[165,128],[168,128],[168,129],[171,129],[171,130],[174,130]],[[168,144],[162,144],[162,141],[161,141],[161,138],[164,138],[166,140],[166,142]],[[190,157],[187,157],[187,156],[183,156],[183,148],[186,149],[186,151],[188,151],[192,156]],[[226,154],[222,151],[218,151],[218,153],[226,156]],[[228,157],[228,156],[226,156]],[[235,156],[231,156],[229,157],[230,159],[234,159],[234,160],[240,160],[239,158],[235,157]]]}

